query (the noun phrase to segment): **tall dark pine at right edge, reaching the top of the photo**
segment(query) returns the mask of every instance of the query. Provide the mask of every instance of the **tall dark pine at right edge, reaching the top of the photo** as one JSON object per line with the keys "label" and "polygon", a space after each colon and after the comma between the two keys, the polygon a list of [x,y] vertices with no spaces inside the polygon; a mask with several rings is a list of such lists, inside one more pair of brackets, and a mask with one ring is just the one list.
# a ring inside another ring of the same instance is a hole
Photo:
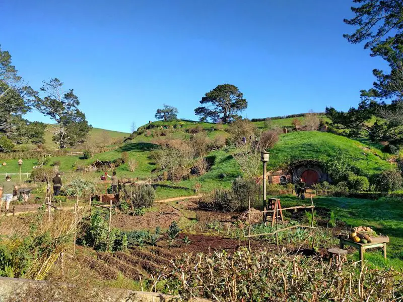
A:
{"label": "tall dark pine at right edge, reaching the top of the photo", "polygon": [[[402,62],[403,62],[403,2],[401,0],[353,0],[359,4],[352,7],[355,14],[345,19],[346,24],[356,27],[352,34],[344,37],[351,43],[365,42],[364,48],[370,49],[371,56],[382,57],[390,67],[390,73],[374,69],[376,81],[373,88],[361,91],[361,102],[357,109],[338,112],[326,108],[333,124],[348,129],[351,136],[367,132],[371,139],[400,144],[403,131],[401,119],[402,103]],[[384,99],[392,99],[386,104]],[[369,123],[373,116],[380,117],[374,125]]]}

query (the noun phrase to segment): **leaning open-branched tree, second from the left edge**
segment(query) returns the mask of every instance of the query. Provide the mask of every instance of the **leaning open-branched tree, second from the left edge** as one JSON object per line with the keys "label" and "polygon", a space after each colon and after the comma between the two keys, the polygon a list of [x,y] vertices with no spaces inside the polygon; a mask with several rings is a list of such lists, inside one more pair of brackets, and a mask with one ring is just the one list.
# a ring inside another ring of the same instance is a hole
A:
{"label": "leaning open-branched tree, second from the left edge", "polygon": [[80,101],[73,89],[63,91],[63,83],[54,78],[43,82],[41,91],[46,93],[44,98],[36,98],[35,108],[50,116],[56,123],[52,126],[53,141],[60,148],[82,144],[92,129],[85,114],[78,109]]}

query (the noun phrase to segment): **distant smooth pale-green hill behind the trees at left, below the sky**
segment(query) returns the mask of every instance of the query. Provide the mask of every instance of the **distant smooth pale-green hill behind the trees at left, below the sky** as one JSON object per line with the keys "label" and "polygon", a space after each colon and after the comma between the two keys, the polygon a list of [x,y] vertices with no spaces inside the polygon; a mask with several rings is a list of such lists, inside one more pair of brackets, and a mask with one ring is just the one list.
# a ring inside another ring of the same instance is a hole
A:
{"label": "distant smooth pale-green hill behind the trees at left, below the sky", "polygon": [[[45,146],[49,149],[56,149],[57,144],[53,142],[53,128],[51,125],[47,125],[45,131]],[[97,145],[110,145],[118,140],[122,140],[125,137],[128,137],[129,133],[112,131],[112,130],[105,130],[99,128],[93,128],[90,131],[88,142],[91,144]]]}

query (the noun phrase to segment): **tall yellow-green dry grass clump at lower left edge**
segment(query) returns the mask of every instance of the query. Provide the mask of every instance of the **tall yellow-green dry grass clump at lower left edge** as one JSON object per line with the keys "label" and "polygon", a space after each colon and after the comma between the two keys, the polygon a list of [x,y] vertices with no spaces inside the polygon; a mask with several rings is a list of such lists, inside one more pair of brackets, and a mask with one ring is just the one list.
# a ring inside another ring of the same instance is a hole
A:
{"label": "tall yellow-green dry grass clump at lower left edge", "polygon": [[[61,253],[71,249],[83,213],[55,211],[51,221],[44,214],[42,207],[29,223],[0,238],[0,276],[43,280]],[[4,217],[0,227],[10,229],[10,223]]]}

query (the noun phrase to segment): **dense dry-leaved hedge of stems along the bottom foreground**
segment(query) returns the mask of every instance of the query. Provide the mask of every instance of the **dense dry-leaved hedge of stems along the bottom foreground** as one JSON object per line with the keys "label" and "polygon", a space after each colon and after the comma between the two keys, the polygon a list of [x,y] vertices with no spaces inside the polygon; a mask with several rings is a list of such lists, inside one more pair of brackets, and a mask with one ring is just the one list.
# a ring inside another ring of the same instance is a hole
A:
{"label": "dense dry-leaved hedge of stems along the bottom foreground", "polygon": [[344,264],[339,272],[320,258],[266,249],[230,255],[183,255],[166,269],[169,292],[214,301],[396,301],[401,273]]}

